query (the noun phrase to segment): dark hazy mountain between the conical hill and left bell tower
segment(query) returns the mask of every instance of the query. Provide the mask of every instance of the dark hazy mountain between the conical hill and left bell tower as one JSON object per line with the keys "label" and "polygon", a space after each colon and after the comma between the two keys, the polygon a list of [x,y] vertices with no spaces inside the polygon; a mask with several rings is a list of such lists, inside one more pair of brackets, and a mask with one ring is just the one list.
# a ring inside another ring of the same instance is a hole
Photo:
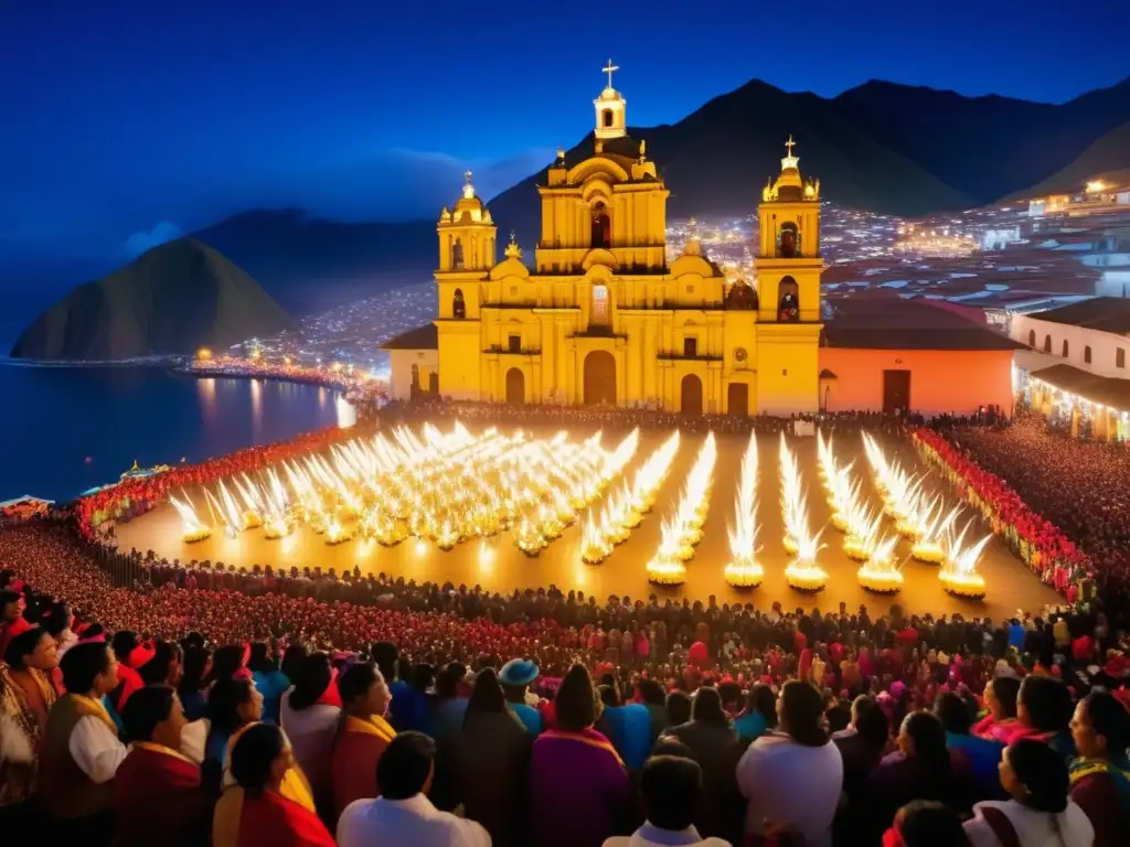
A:
{"label": "dark hazy mountain between the conical hill and left bell tower", "polygon": [[294,315],[424,282],[438,250],[434,220],[350,224],[301,209],[235,215],[191,237],[246,270]]}

